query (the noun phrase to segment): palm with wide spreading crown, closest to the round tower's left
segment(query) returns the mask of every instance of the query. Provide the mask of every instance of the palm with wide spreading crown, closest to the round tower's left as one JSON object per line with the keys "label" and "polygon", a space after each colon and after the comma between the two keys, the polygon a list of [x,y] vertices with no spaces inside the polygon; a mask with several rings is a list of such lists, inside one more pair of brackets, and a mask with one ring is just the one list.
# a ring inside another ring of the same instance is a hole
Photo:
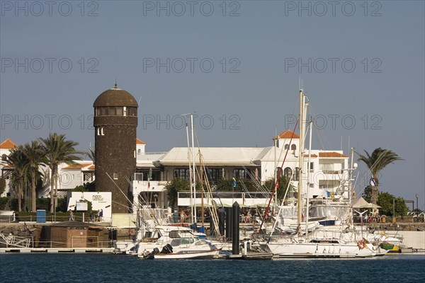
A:
{"label": "palm with wide spreading crown, closest to the round tower's left", "polygon": [[57,207],[58,166],[60,163],[74,165],[74,160],[81,160],[75,155],[80,154],[74,149],[78,142],[67,141],[64,134],[56,133],[50,133],[46,139],[39,138],[39,141],[46,156],[46,165],[50,168],[50,212],[53,212]]}

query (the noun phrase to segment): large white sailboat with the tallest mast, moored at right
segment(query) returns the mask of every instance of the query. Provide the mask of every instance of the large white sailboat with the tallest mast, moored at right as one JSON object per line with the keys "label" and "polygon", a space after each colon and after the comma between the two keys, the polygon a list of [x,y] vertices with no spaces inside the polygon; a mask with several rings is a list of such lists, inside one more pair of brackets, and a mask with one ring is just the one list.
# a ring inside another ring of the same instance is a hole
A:
{"label": "large white sailboat with the tallest mast, moored at right", "polygon": [[[309,224],[309,194],[307,187],[307,197],[305,200],[305,220],[303,214],[303,202],[302,199],[302,173],[303,173],[303,158],[304,158],[304,139],[305,139],[305,121],[306,117],[306,100],[307,97],[300,88],[300,154],[298,158],[299,166],[299,177],[298,177],[298,192],[297,192],[297,207],[295,209],[297,214],[297,222],[295,227],[295,233],[286,236],[271,236],[268,243],[266,244],[268,250],[273,253],[275,258],[366,258],[373,257],[377,254],[375,246],[367,241],[356,241],[352,239],[352,236],[356,236],[353,233],[342,237],[343,232],[342,226],[334,227],[329,230],[328,227],[314,226],[312,228]],[[311,151],[311,122],[310,122],[310,149]],[[309,157],[310,158],[310,157]],[[309,163],[310,164],[310,163]],[[308,171],[307,171],[308,172]],[[351,172],[351,171],[349,171]],[[348,192],[351,194],[351,192]],[[352,215],[352,214],[351,214]],[[305,224],[305,228],[303,227]],[[384,252],[385,253],[385,252]]]}

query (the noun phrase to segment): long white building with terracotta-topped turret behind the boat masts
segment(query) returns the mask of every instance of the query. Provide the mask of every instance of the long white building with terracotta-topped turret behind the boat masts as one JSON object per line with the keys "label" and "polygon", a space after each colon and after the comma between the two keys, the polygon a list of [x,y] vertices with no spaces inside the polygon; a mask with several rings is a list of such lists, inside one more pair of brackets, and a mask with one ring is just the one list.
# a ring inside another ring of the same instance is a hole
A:
{"label": "long white building with terracotta-topped turret behind the boat masts", "polygon": [[[276,173],[292,178],[291,185],[295,187],[293,193],[296,193],[299,178],[299,139],[297,134],[287,130],[276,137],[276,146],[203,147],[196,149],[195,163],[196,166],[200,165],[201,155],[210,183],[215,183],[221,178],[257,180],[264,183],[274,178],[275,168],[277,168]],[[286,154],[287,149],[288,154]],[[165,154],[143,154],[142,152],[137,155],[137,171],[144,173],[142,176],[135,175],[134,200],[137,200],[138,195],[142,195],[142,199],[148,200],[152,206],[165,209],[164,186],[166,183],[173,178],[190,179],[188,149],[175,147]],[[301,178],[303,187],[309,187],[309,197],[329,197],[332,192],[346,190],[348,156],[342,151],[316,149],[311,151],[310,166],[307,166],[308,150],[304,149],[303,152],[302,167],[309,170],[303,169]],[[148,181],[149,172],[151,172],[151,178]],[[232,187],[229,187],[229,190],[232,190]],[[345,193],[348,194],[348,192]],[[187,200],[179,199],[179,205],[186,204]],[[134,207],[137,205],[139,204],[135,202]]]}

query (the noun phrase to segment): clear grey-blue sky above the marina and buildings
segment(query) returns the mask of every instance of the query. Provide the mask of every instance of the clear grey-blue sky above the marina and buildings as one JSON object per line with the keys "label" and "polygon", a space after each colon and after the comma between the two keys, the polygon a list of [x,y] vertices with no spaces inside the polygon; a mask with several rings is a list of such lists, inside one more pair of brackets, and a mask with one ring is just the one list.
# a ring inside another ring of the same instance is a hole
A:
{"label": "clear grey-blue sky above the marina and buildings", "polygon": [[93,102],[117,79],[140,100],[147,151],[185,146],[188,112],[201,146],[270,146],[293,127],[301,77],[313,148],[395,151],[404,161],[380,190],[418,193],[424,209],[424,13],[424,1],[1,1],[1,140],[59,132],[88,149]]}

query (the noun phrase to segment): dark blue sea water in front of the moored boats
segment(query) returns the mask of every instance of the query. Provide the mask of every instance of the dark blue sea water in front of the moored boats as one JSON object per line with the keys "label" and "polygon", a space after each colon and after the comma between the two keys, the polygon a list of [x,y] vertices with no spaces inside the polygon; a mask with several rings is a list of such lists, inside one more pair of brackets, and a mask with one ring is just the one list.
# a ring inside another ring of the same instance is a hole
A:
{"label": "dark blue sea water in front of the moored boats", "polygon": [[244,261],[8,253],[0,255],[0,282],[425,282],[425,255]]}

